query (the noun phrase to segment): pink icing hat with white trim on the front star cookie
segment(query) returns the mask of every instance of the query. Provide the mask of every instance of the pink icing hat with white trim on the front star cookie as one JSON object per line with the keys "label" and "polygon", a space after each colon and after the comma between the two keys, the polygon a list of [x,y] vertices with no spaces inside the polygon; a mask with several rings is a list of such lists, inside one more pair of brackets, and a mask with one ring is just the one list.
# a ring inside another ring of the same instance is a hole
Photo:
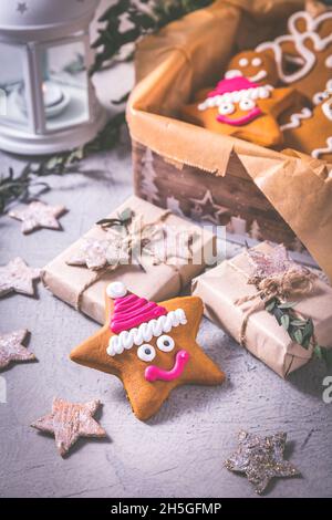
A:
{"label": "pink icing hat with white trim on the front star cookie", "polygon": [[106,294],[114,301],[110,323],[114,335],[107,346],[107,354],[112,356],[187,323],[183,309],[168,312],[155,302],[129,293],[122,282],[110,283]]}

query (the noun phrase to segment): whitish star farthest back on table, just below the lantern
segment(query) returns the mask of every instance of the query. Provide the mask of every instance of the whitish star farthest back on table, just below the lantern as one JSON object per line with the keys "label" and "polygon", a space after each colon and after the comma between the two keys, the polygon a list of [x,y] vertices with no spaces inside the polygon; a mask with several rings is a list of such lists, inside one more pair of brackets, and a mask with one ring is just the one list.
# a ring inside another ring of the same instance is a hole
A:
{"label": "whitish star farthest back on table, just below the lantern", "polygon": [[30,233],[35,229],[60,229],[58,217],[66,211],[64,206],[49,206],[40,200],[30,202],[27,208],[9,211],[9,216],[22,221],[22,232]]}

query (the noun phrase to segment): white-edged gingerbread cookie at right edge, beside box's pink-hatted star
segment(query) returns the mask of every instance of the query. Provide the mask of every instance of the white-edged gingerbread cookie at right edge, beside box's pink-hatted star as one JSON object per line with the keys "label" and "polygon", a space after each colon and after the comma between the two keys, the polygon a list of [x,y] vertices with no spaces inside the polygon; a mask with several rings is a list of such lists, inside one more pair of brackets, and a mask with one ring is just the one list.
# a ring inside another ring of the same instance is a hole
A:
{"label": "white-edged gingerbread cookie at right edge, beside box's pink-hatted star", "polygon": [[293,114],[282,126],[284,142],[290,148],[309,154],[315,159],[332,163],[332,94],[313,111]]}

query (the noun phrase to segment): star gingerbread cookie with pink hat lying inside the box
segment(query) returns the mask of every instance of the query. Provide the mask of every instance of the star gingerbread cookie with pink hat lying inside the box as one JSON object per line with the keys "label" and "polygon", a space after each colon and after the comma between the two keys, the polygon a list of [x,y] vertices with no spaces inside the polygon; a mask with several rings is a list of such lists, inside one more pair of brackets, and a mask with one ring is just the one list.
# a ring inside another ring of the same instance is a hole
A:
{"label": "star gingerbread cookie with pink hat lying inside the box", "polygon": [[237,76],[221,80],[212,91],[199,91],[197,101],[185,106],[183,115],[212,132],[276,146],[282,144],[277,118],[297,97],[292,89],[274,89]]}

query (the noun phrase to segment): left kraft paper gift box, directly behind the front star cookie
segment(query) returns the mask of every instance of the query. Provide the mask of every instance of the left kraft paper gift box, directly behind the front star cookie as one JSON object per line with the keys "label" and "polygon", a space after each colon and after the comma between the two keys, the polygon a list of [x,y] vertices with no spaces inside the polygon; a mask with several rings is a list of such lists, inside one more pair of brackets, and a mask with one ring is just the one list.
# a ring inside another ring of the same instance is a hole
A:
{"label": "left kraft paper gift box, directly behind the front star cookie", "polygon": [[[153,222],[165,214],[165,210],[133,196],[107,218],[116,218],[126,208],[131,208],[135,215],[142,215],[144,222]],[[152,262],[145,262],[145,271],[137,264],[125,264],[114,271],[103,272],[100,279],[93,281],[97,271],[92,271],[86,267],[69,266],[66,262],[77,253],[82,241],[86,238],[106,238],[105,231],[95,225],[45,266],[42,272],[43,283],[55,297],[98,323],[104,322],[104,291],[111,281],[121,280],[128,290],[148,300],[163,301],[177,295],[194,277],[204,270],[205,259],[208,259],[210,253],[214,254],[215,236],[207,228],[203,229],[175,215],[169,215],[165,225],[176,230],[188,230],[194,235],[190,262],[178,262],[176,267],[168,263],[154,266]]]}

